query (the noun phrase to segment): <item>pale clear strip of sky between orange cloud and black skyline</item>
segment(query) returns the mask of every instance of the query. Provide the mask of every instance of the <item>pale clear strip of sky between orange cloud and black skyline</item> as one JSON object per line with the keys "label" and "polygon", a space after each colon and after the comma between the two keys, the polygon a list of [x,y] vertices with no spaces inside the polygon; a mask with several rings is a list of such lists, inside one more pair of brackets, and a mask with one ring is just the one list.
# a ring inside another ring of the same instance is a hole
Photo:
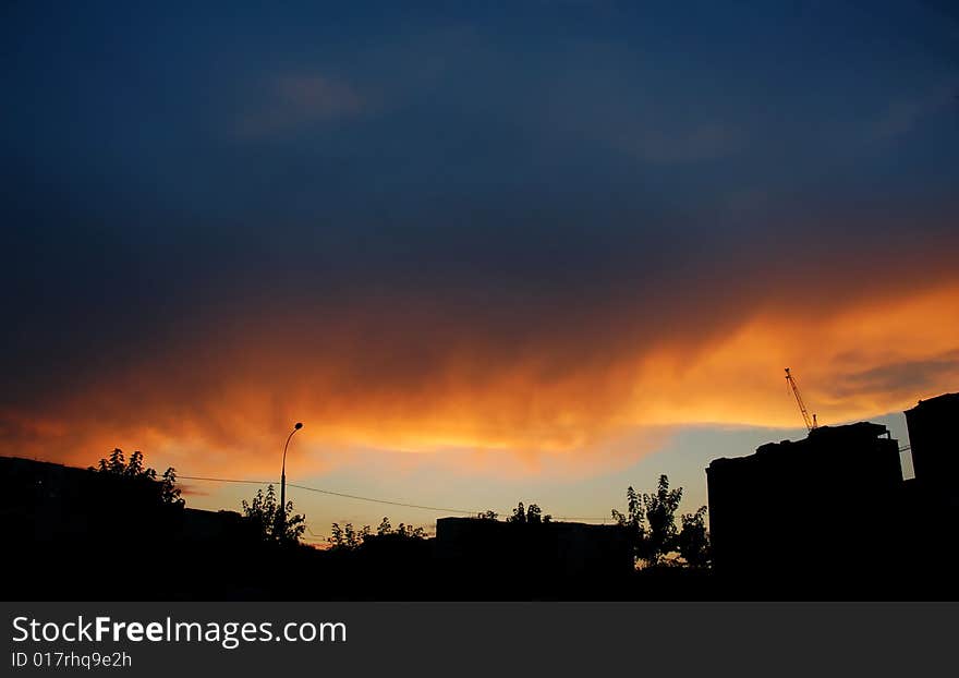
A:
{"label": "pale clear strip of sky between orange cloud and black skyline", "polygon": [[[782,398],[791,401],[791,396],[782,391]],[[912,404],[915,400],[912,400]],[[794,407],[794,403],[793,403]],[[797,412],[796,417],[799,419]],[[899,463],[903,477],[912,477],[912,459],[909,451],[909,431],[906,426],[906,417],[900,412],[898,415],[872,417],[871,421],[881,422],[887,426],[893,436],[901,441]],[[595,524],[611,524],[615,522],[609,514],[610,498],[621,495],[624,485],[639,483],[642,486],[655,485],[655,480],[661,473],[666,473],[673,482],[684,488],[684,495],[680,506],[680,512],[691,513],[701,505],[708,501],[706,492],[706,475],[703,470],[718,457],[741,457],[745,450],[760,447],[770,439],[801,439],[806,435],[802,428],[794,429],[766,429],[755,428],[746,432],[733,431],[731,434],[713,432],[705,428],[694,434],[683,447],[681,453],[676,455],[679,459],[670,459],[670,450],[643,458],[638,464],[626,471],[606,474],[596,482],[596,479],[586,475],[583,479],[557,477],[544,482],[542,477],[521,475],[515,479],[502,479],[495,474],[488,476],[465,476],[460,474],[463,483],[469,483],[472,489],[471,500],[457,493],[457,486],[438,487],[427,486],[420,488],[424,464],[418,460],[408,465],[406,477],[390,477],[388,481],[375,482],[375,489],[362,491],[369,487],[368,477],[364,473],[353,470],[349,474],[320,474],[300,480],[301,475],[293,475],[292,471],[288,479],[288,499],[295,500],[296,506],[308,514],[306,522],[307,531],[303,535],[306,543],[325,545],[328,537],[328,525],[333,522],[344,524],[347,522],[357,525],[375,525],[386,511],[397,519],[411,525],[422,525],[429,534],[435,532],[435,521],[442,516],[475,516],[487,510],[494,510],[501,517],[506,517],[515,506],[517,497],[531,497],[538,500],[543,508],[557,517],[558,520],[586,522]],[[282,436],[280,436],[282,437]],[[744,441],[742,441],[744,440]],[[281,440],[282,443],[282,440]],[[690,449],[692,448],[692,449]],[[905,451],[902,451],[905,450]],[[265,450],[267,452],[268,450]],[[291,449],[291,459],[300,457],[293,455],[295,446]],[[96,453],[96,452],[94,452]],[[282,457],[282,445],[276,452],[278,459]],[[20,455],[7,455],[19,457]],[[269,456],[269,455],[265,455]],[[162,455],[150,453],[151,460],[158,465],[165,465]],[[35,457],[44,461],[58,462],[57,456]],[[87,455],[89,461],[89,455]],[[694,465],[689,469],[690,462]],[[294,462],[295,463],[295,462]],[[68,464],[70,465],[70,464]],[[88,464],[83,464],[83,467]],[[428,467],[427,467],[428,469]],[[679,470],[679,472],[677,472]],[[276,471],[276,470],[274,470]],[[371,470],[371,474],[376,474]],[[248,500],[256,487],[266,489],[274,485],[279,495],[279,472],[264,473],[257,477],[236,477],[236,473],[216,473],[214,475],[195,476],[187,471],[178,473],[178,487],[184,498],[195,508],[205,510],[238,510],[243,500]],[[350,479],[353,484],[343,484],[344,479]],[[476,483],[478,481],[480,484]],[[413,485],[411,485],[413,483]],[[410,487],[416,487],[415,494]],[[543,487],[546,488],[544,492]],[[565,498],[575,496],[582,492],[591,495],[591,501],[581,510],[576,505],[570,504]]]}

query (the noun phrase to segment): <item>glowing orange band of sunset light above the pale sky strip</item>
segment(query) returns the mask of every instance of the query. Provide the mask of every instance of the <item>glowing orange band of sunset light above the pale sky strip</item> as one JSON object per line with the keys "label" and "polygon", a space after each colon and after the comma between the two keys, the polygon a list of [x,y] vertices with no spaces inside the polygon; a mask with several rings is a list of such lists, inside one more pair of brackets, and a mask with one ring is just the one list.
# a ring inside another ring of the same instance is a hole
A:
{"label": "glowing orange band of sunset light above the pale sky strip", "polygon": [[[241,463],[255,474],[272,469],[276,436],[288,421],[302,419],[307,426],[298,435],[298,449],[307,473],[329,467],[327,455],[312,459],[303,452],[311,449],[338,455],[472,449],[498,455],[506,475],[535,469],[530,457],[553,458],[567,472],[582,473],[598,461],[591,450],[622,432],[651,432],[651,445],[634,452],[641,456],[656,449],[665,428],[796,427],[799,413],[782,379],[786,364],[793,366],[821,424],[901,411],[920,398],[955,390],[959,315],[949,311],[957,307],[959,284],[947,283],[840,308],[815,324],[797,323],[790,313],[760,315],[693,350],[655,344],[640,355],[618,355],[599,372],[570,371],[549,379],[542,378],[536,360],[477,370],[452,359],[428,379],[410,374],[384,388],[375,374],[361,382],[355,373],[336,374],[330,365],[294,358],[295,372],[270,371],[293,375],[270,390],[263,377],[257,380],[256,365],[252,374],[231,367],[229,376],[216,366],[191,365],[184,379],[177,373],[182,363],[159,362],[68,399],[62,414],[53,409],[17,420],[5,412],[4,447],[83,464],[119,446],[149,450],[172,465],[182,465],[185,453],[197,472],[222,469],[230,459],[231,467]],[[937,323],[923,322],[933,316]],[[231,350],[252,349],[241,342]],[[463,373],[470,370],[483,372],[483,382],[468,378]],[[165,374],[173,378],[165,382]],[[204,383],[217,388],[204,390]],[[351,385],[347,396],[336,390],[343,383]],[[17,432],[15,439],[10,432]],[[51,446],[64,451],[50,455]]]}

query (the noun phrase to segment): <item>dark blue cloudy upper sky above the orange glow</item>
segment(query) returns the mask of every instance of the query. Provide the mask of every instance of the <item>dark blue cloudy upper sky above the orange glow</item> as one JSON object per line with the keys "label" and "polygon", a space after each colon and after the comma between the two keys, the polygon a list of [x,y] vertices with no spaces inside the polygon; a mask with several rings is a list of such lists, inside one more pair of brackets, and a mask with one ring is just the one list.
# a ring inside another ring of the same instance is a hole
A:
{"label": "dark blue cloudy upper sky above the orange glow", "polygon": [[503,338],[599,316],[628,342],[788,296],[806,281],[784,259],[853,293],[956,244],[957,28],[935,8],[10,3],[0,23],[23,390],[264,298],[388,291]]}

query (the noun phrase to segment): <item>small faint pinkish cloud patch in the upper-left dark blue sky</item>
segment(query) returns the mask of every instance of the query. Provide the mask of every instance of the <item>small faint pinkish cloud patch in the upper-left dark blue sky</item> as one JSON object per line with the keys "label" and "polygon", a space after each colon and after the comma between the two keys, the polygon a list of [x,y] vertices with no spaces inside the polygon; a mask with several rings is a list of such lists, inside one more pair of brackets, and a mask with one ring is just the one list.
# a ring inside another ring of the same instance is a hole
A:
{"label": "small faint pinkish cloud patch in the upper-left dark blue sky", "polygon": [[243,113],[236,133],[262,137],[296,132],[311,125],[351,118],[366,108],[350,84],[319,74],[286,74],[266,85],[266,100]]}

